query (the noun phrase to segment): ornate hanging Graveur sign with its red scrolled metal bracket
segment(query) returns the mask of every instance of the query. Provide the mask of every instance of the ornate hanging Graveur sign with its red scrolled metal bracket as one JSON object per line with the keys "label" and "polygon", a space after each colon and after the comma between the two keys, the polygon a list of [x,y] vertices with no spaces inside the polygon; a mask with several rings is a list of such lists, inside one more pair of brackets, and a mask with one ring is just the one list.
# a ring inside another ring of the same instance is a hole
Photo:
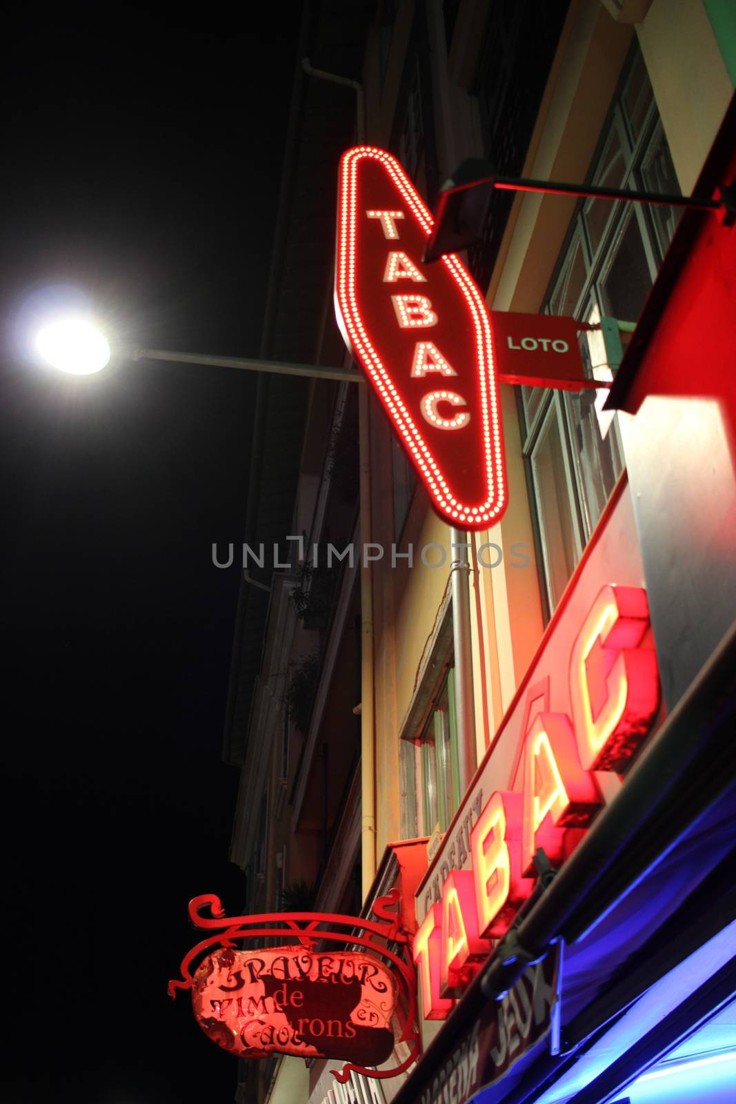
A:
{"label": "ornate hanging Graveur sign with its red scrolled metal bracket", "polygon": [[[397,904],[397,891],[378,899],[373,905],[378,921],[313,912],[225,916],[216,896],[194,898],[191,921],[220,932],[189,952],[181,964],[182,980],[170,981],[169,994],[191,989],[202,1030],[237,1058],[265,1058],[276,1051],[344,1059],[346,1065],[334,1071],[343,1083],[351,1070],[393,1078],[418,1052],[416,980],[409,936],[394,911]],[[207,905],[212,919],[201,914]],[[335,926],[346,931],[335,932]],[[356,935],[356,928],[365,934]],[[247,938],[295,943],[236,949]],[[333,949],[335,942],[349,949]],[[409,1043],[406,1061],[391,1070],[369,1069],[385,1062],[396,1041]]]}

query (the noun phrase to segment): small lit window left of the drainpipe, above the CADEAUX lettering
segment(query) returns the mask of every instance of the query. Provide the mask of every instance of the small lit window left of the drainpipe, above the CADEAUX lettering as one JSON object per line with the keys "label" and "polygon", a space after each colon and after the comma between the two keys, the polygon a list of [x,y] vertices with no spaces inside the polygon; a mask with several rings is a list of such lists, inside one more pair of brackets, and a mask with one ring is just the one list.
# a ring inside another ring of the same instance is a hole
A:
{"label": "small lit window left of the drainpipe, above the CADEAUX lettering", "polygon": [[446,831],[460,804],[455,671],[450,668],[416,749],[420,830]]}

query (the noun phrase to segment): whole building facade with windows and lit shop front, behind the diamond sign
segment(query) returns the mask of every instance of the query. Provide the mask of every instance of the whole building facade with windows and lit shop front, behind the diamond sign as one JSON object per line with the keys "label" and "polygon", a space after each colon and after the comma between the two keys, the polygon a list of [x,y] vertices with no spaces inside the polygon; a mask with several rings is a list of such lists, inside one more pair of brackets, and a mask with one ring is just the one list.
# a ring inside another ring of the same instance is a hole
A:
{"label": "whole building facade with windows and lit shop front, behind the diamond sign", "polygon": [[710,198],[736,174],[735,77],[721,0],[305,6],[262,351],[348,373],[259,384],[232,859],[254,913],[399,889],[420,1055],[344,1087],[337,1062],[242,1062],[239,1101],[729,1098],[735,231],[493,193],[465,257],[489,307],[588,323],[602,386],[501,384],[509,506],[463,548],[350,378],[332,298],[350,146],[390,150],[430,210],[473,157]]}

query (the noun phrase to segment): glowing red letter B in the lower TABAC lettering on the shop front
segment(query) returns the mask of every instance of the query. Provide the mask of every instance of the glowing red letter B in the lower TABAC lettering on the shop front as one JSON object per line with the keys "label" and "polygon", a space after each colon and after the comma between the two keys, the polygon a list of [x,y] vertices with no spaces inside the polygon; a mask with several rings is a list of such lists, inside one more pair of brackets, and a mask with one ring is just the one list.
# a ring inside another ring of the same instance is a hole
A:
{"label": "glowing red letter B in the lower TABAC lettering on the shop front", "polygon": [[523,796],[510,790],[491,794],[470,832],[478,931],[499,938],[516,906],[527,898],[533,879],[522,877]]}

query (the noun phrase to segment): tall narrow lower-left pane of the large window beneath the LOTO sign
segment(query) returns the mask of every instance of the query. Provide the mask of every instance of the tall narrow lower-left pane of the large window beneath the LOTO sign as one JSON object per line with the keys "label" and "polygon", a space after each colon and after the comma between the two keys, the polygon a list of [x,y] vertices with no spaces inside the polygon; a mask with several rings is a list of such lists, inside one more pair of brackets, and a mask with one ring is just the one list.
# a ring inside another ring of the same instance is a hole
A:
{"label": "tall narrow lower-left pane of the large window beneath the LOTO sign", "polygon": [[550,407],[532,455],[550,602],[556,606],[577,562],[575,521],[565,468],[557,404]]}

